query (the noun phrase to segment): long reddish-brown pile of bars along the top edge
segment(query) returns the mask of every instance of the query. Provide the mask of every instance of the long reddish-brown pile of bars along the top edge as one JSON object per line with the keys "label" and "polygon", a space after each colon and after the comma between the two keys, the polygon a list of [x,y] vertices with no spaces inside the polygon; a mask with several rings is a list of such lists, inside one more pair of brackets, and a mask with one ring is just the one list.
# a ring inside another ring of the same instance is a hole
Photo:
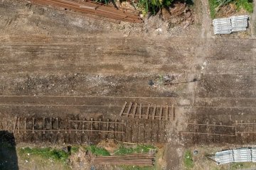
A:
{"label": "long reddish-brown pile of bars along the top edge", "polygon": [[142,23],[138,13],[132,13],[127,9],[114,8],[105,4],[95,3],[93,1],[83,0],[20,0],[27,1],[31,4],[48,6],[53,8],[70,11],[73,13],[80,13],[85,16],[92,16],[93,18],[110,18],[117,21],[126,21],[129,23]]}

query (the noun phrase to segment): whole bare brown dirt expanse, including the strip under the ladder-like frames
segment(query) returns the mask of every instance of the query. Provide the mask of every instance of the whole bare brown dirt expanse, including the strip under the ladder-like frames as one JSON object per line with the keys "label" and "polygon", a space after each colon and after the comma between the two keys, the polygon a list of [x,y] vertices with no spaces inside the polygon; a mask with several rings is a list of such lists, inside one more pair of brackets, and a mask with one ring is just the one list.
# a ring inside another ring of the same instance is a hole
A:
{"label": "whole bare brown dirt expanse, including the strip under the ladder-like frames", "polygon": [[169,169],[183,145],[255,141],[239,124],[256,121],[254,39],[129,26],[1,1],[1,128],[16,142],[166,143]]}

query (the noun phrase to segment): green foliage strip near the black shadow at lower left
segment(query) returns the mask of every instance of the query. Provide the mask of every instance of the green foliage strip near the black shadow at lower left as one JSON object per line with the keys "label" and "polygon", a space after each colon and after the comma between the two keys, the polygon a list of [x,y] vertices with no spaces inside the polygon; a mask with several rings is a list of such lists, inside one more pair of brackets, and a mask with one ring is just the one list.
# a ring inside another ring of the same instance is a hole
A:
{"label": "green foliage strip near the black shadow at lower left", "polygon": [[38,148],[38,147],[25,147],[19,150],[21,154],[34,154],[46,159],[53,159],[55,161],[66,162],[69,154],[60,149],[51,149],[50,147]]}

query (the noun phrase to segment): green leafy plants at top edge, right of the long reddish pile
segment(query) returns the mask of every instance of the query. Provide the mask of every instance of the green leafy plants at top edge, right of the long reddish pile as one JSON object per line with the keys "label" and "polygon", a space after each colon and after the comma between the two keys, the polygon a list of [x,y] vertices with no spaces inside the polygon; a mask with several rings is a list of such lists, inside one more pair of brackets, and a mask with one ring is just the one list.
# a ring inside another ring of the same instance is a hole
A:
{"label": "green leafy plants at top edge, right of the long reddish pile", "polygon": [[142,9],[142,13],[152,12],[154,15],[164,7],[171,6],[174,0],[139,0],[137,6]]}

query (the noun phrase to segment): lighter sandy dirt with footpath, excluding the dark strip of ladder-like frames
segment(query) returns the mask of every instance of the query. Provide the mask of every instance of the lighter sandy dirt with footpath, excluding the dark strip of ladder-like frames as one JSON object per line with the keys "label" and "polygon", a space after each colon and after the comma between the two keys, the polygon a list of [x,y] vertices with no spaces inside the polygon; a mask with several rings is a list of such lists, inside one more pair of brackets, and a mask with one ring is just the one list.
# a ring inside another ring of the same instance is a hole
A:
{"label": "lighter sandy dirt with footpath, excluding the dark strip of ladder-like frames", "polygon": [[183,145],[213,141],[181,137],[184,123],[255,120],[256,41],[213,36],[201,4],[201,26],[159,31],[1,1],[1,127],[12,127],[15,115],[115,119],[124,101],[144,111],[149,103],[174,104],[166,159],[169,169],[181,169]]}

